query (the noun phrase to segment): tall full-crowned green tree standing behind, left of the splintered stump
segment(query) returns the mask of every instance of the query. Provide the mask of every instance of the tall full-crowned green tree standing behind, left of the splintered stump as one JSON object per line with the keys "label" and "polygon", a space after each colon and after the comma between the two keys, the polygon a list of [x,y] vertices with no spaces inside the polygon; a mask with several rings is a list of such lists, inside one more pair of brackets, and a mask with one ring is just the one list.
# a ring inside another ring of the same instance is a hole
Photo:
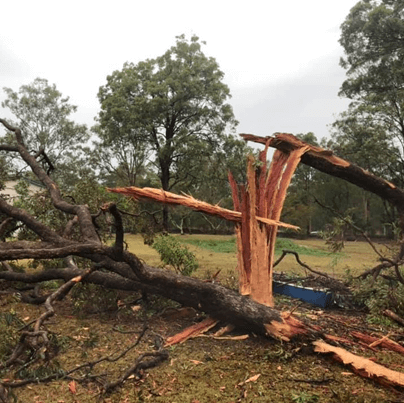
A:
{"label": "tall full-crowned green tree standing behind, left of the splintered stump", "polygon": [[[107,77],[98,94],[101,138],[150,145],[164,190],[187,180],[182,166],[190,166],[190,161],[198,166],[226,128],[237,123],[226,103],[230,91],[222,81],[224,74],[216,60],[203,53],[203,42],[196,36],[176,39],[162,56],[125,63]],[[163,222],[167,228],[167,209]]]}

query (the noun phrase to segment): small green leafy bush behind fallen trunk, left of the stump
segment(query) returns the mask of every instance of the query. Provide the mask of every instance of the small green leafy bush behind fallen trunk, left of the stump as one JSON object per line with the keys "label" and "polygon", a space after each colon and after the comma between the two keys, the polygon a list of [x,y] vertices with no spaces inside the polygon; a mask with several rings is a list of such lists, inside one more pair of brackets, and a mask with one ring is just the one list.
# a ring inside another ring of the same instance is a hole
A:
{"label": "small green leafy bush behind fallen trunk, left of the stump", "polygon": [[189,276],[199,266],[195,254],[171,235],[158,236],[153,248],[159,253],[164,264],[172,266],[184,276]]}

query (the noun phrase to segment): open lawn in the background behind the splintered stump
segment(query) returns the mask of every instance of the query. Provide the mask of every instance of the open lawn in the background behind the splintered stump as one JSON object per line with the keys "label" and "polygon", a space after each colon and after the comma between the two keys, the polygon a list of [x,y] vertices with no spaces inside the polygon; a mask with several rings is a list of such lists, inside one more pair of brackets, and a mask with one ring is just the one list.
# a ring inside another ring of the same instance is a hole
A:
{"label": "open lawn in the background behind the splintered stump", "polygon": [[[206,277],[221,269],[221,275],[234,275],[237,267],[235,237],[232,235],[174,235],[180,242],[192,250],[198,261],[198,277]],[[150,246],[144,245],[139,235],[126,237],[128,248],[150,265],[161,264],[157,252]],[[383,245],[380,245],[383,249]],[[300,259],[313,269],[326,273],[343,276],[349,269],[351,274],[359,274],[377,264],[377,255],[366,242],[346,242],[340,253],[331,253],[321,239],[291,240],[279,238],[275,256],[279,256],[282,249],[291,249],[299,253]],[[276,271],[286,273],[305,274],[294,256],[286,256],[276,267]]]}

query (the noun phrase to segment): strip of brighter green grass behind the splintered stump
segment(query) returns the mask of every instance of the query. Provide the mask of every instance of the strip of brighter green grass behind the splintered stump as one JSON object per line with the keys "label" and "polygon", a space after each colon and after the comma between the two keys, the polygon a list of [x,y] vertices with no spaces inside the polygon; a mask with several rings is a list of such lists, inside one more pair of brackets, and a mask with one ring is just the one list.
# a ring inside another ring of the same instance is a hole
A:
{"label": "strip of brighter green grass behind the splintered stump", "polygon": [[[198,239],[198,238],[178,238],[180,242],[185,244],[190,244],[198,248],[207,249],[214,253],[236,253],[236,238],[232,237],[230,239]],[[308,246],[302,246],[296,244],[291,239],[279,238],[276,240],[275,253],[282,253],[283,249],[293,250],[301,255],[308,256],[329,256],[330,252],[310,248]]]}

